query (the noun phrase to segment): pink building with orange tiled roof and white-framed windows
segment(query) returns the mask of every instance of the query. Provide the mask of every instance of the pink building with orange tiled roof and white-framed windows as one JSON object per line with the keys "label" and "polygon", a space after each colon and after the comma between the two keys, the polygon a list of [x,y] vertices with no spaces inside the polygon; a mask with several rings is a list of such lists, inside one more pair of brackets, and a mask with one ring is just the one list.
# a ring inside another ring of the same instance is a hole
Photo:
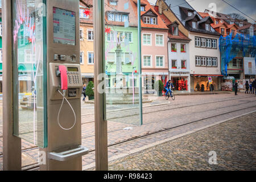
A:
{"label": "pink building with orange tiled roof and white-framed windows", "polygon": [[150,93],[156,81],[162,80],[164,85],[168,81],[168,27],[158,8],[145,0],[141,0],[141,27],[142,86]]}

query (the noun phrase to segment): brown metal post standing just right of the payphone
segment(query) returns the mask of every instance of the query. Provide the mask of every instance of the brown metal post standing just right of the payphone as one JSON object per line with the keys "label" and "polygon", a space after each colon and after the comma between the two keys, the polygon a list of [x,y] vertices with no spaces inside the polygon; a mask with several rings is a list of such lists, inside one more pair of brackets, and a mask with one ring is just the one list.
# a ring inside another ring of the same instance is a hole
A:
{"label": "brown metal post standing just right of the payphone", "polygon": [[105,55],[104,32],[104,0],[93,1],[94,26],[94,121],[95,121],[95,155],[96,170],[108,170],[108,125],[104,121],[104,94],[98,92],[98,75],[104,73],[103,61]]}

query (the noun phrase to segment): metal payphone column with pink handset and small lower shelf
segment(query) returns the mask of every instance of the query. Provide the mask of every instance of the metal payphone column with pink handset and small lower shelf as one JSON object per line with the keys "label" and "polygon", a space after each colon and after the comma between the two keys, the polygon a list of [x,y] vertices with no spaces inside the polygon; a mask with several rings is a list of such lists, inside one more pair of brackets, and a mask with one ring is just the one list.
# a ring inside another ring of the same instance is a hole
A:
{"label": "metal payphone column with pink handset and small lower shelf", "polygon": [[[42,170],[81,170],[79,1],[47,0],[48,146]],[[71,160],[72,159],[72,160]]]}

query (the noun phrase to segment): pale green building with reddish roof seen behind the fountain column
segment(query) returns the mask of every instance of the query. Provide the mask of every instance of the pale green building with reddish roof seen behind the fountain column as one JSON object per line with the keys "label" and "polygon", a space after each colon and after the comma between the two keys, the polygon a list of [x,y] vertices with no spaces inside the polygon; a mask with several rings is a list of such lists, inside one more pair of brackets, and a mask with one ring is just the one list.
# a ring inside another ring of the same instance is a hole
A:
{"label": "pale green building with reddish roof seen behind the fountain column", "polygon": [[[121,86],[139,86],[138,18],[137,7],[128,1],[125,7],[118,1],[107,1],[105,6],[105,67],[107,86],[116,86],[120,75]],[[119,81],[118,81],[119,82]]]}

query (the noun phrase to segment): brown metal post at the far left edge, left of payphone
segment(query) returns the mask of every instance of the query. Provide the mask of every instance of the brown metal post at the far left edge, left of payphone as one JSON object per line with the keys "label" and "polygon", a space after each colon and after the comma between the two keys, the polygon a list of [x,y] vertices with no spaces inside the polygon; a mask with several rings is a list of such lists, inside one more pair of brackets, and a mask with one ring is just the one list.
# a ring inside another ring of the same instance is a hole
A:
{"label": "brown metal post at the far left edge, left of payphone", "polygon": [[10,0],[2,1],[3,24],[3,170],[22,168],[21,139],[13,135],[13,35]]}

